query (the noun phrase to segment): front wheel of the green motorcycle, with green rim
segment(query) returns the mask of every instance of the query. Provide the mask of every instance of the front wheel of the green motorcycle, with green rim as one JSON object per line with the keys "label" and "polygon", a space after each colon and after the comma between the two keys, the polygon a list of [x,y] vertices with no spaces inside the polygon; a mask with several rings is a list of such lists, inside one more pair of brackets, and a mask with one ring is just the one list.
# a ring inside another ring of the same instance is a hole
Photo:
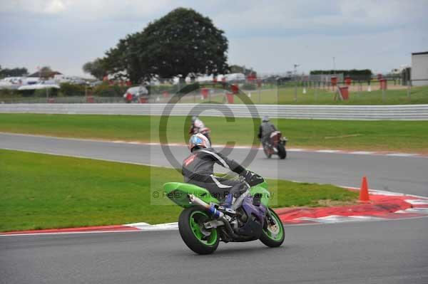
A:
{"label": "front wheel of the green motorcycle, with green rim", "polygon": [[285,231],[281,219],[277,216],[275,211],[269,209],[269,212],[272,219],[266,216],[265,226],[263,226],[263,231],[260,235],[260,241],[270,248],[276,248],[281,246],[284,242]]}

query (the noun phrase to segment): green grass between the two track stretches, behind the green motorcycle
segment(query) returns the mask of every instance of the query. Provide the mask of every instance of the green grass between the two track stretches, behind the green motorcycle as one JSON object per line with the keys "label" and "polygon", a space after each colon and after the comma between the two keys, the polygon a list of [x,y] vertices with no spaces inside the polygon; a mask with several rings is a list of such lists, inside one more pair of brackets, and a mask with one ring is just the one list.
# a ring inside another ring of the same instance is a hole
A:
{"label": "green grass between the two track stretches, behind the green motorcycle", "polygon": [[[151,194],[182,180],[175,169],[0,149],[0,231],[177,221],[181,208]],[[275,207],[357,198],[329,184],[267,182]]]}

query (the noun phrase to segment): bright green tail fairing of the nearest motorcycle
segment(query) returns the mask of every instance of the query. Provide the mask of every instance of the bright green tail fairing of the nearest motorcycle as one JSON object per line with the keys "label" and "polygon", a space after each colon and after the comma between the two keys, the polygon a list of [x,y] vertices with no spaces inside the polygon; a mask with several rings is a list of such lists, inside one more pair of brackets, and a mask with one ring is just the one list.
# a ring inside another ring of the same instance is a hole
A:
{"label": "bright green tail fairing of the nearest motorcycle", "polygon": [[200,186],[195,186],[193,184],[185,184],[182,182],[168,182],[163,185],[163,191],[165,195],[172,200],[178,206],[187,208],[193,206],[189,203],[188,194],[193,194],[202,201],[210,204],[218,204],[219,201],[211,196],[208,190],[203,189]]}

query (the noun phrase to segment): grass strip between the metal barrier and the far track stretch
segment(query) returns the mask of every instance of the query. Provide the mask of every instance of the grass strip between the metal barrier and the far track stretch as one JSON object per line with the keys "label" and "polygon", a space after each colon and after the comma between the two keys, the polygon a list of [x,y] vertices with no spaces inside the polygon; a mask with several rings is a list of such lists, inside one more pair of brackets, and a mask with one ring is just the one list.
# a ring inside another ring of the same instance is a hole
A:
{"label": "grass strip between the metal barrier and the far track stretch", "polygon": [[[232,141],[251,144],[252,120],[201,117],[211,128],[214,144]],[[168,142],[187,143],[190,117],[170,117],[165,133]],[[126,115],[35,115],[0,114],[0,131],[51,135],[159,142],[160,117]],[[289,147],[355,149],[398,152],[428,152],[427,121],[357,120],[272,120],[285,136]],[[259,123],[259,122],[257,122]],[[258,127],[258,125],[256,125]]]}

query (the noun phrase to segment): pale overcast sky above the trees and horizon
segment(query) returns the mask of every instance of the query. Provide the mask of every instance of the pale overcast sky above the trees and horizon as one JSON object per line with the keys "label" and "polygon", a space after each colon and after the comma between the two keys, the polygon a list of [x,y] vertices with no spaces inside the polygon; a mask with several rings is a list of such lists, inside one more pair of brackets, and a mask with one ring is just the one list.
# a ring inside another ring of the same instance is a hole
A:
{"label": "pale overcast sky above the trees and horizon", "polygon": [[0,0],[0,65],[49,65],[67,75],[177,7],[213,19],[230,64],[259,72],[370,68],[428,51],[428,0]]}

